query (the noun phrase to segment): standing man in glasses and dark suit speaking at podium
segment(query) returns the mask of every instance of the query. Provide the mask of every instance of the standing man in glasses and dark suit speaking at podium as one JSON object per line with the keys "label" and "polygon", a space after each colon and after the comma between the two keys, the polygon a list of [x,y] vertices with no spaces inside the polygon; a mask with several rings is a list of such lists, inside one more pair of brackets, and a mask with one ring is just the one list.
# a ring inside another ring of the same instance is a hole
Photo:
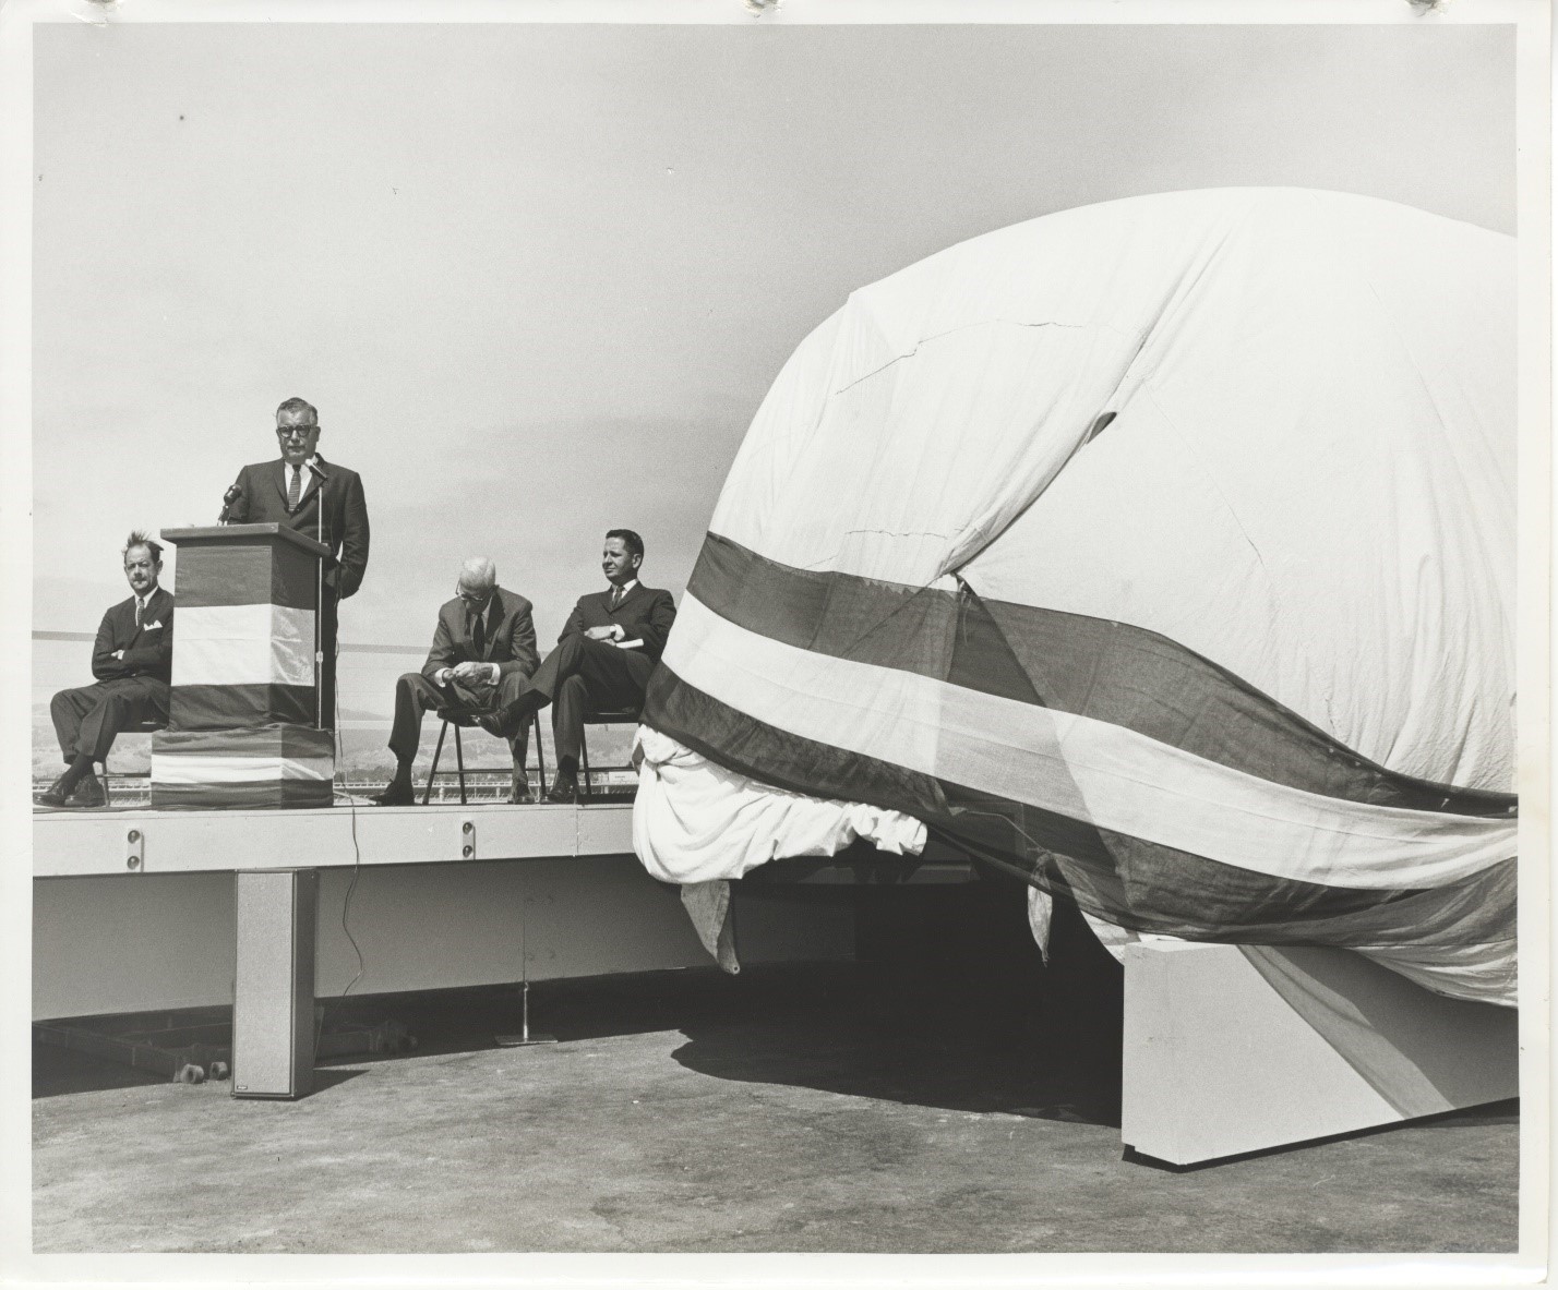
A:
{"label": "standing man in glasses and dark suit speaking at podium", "polygon": [[330,548],[335,564],[324,573],[319,640],[319,724],[335,729],[337,604],[354,595],[368,570],[368,502],[355,471],[326,461],[319,452],[319,413],[302,399],[276,410],[279,461],[245,466],[227,489],[223,523],[285,523]]}

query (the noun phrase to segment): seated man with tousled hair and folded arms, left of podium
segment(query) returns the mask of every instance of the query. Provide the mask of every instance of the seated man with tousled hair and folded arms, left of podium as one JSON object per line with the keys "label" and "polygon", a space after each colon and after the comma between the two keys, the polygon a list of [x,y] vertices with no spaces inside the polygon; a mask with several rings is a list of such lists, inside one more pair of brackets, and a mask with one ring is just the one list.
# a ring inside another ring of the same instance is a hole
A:
{"label": "seated man with tousled hair and folded arms, left of podium", "polygon": [[143,721],[167,724],[173,675],[173,597],[157,586],[162,545],[139,530],[125,544],[125,578],[134,595],[103,615],[92,645],[95,686],[61,690],[48,710],[69,770],[37,795],[39,805],[103,805],[93,774],[114,738]]}

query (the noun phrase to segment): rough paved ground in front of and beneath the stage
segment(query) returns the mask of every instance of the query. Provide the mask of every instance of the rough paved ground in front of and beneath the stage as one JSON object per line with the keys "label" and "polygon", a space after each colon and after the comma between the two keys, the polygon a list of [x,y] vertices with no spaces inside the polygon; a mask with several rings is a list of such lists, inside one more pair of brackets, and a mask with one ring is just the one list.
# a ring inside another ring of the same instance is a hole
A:
{"label": "rough paved ground in front of and beneath the stage", "polygon": [[1514,1248],[1514,1103],[1168,1172],[1123,1158],[1087,1075],[1108,1027],[1084,1052],[1066,1008],[986,980],[548,982],[531,1024],[561,1042],[520,1050],[489,1047],[508,991],[355,1000],[335,1017],[422,1047],[324,1067],[298,1103],[37,1049],[36,1249]]}

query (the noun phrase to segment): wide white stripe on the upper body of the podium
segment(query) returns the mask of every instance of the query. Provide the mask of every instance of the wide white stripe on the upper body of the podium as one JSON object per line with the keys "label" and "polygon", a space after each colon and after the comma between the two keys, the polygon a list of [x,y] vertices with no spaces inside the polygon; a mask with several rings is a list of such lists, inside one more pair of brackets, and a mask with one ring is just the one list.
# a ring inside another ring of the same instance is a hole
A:
{"label": "wide white stripe on the upper body of the podium", "polygon": [[313,687],[313,611],[179,603],[173,686]]}

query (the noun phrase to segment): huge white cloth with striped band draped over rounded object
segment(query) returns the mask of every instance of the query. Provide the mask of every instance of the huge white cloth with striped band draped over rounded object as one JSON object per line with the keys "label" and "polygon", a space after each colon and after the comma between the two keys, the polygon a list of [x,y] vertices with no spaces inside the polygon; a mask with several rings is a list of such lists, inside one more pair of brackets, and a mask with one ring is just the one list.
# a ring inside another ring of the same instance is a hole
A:
{"label": "huge white cloth with striped band draped over rounded object", "polygon": [[1513,238],[1285,189],[855,291],[720,495],[643,712],[706,762],[640,784],[640,855],[790,854],[782,815],[720,830],[734,773],[1131,935],[1513,1003]]}

